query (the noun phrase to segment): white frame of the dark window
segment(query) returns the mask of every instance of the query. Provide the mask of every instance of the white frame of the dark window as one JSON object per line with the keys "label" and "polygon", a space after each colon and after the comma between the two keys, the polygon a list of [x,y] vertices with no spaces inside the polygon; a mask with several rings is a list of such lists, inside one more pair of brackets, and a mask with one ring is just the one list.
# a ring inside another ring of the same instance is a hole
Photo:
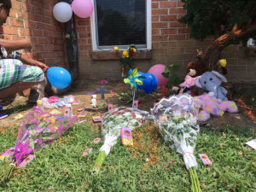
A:
{"label": "white frame of the dark window", "polygon": [[[99,50],[111,50],[113,48],[109,48],[108,46],[102,46],[102,48],[99,48],[96,37],[97,37],[97,30],[96,30],[96,0],[91,0],[93,3],[94,11],[92,15],[90,16],[90,34],[91,34],[91,44],[92,44],[92,50],[93,51],[99,51]],[[146,1],[146,48],[142,48],[141,46],[137,46],[137,49],[152,49],[152,40],[151,40],[151,31],[152,31],[152,21],[151,21],[151,0],[145,0]],[[121,45],[119,46],[119,49],[127,49],[127,45]]]}

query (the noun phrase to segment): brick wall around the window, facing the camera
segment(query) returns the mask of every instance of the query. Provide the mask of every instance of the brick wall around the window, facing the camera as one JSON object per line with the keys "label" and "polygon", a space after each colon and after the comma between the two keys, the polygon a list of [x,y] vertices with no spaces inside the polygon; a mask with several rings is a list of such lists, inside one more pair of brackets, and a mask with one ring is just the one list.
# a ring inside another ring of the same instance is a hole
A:
{"label": "brick wall around the window, facing the camera", "polygon": [[[179,76],[185,76],[184,69],[189,61],[195,60],[196,49],[206,49],[212,38],[202,42],[190,38],[189,27],[177,21],[184,14],[183,3],[179,0],[152,0],[152,58],[134,61],[138,70],[147,72],[156,63],[174,63],[181,66]],[[102,61],[91,59],[90,20],[76,18],[76,24],[80,77],[120,79],[119,61],[106,60],[104,54],[101,55]],[[253,75],[256,72],[256,57],[246,57],[244,48],[232,45],[224,49],[222,57],[228,61],[229,81],[256,81]]]}

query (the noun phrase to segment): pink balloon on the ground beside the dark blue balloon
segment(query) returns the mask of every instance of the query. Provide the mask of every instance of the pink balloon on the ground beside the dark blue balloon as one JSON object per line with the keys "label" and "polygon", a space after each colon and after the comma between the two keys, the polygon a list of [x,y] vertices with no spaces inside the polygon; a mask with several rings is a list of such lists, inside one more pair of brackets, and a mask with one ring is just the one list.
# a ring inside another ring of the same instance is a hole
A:
{"label": "pink balloon on the ground beside the dark blue balloon", "polygon": [[165,72],[166,66],[163,64],[156,64],[149,68],[148,73],[154,74],[157,79],[157,86],[166,85],[169,79],[165,78],[162,73]]}

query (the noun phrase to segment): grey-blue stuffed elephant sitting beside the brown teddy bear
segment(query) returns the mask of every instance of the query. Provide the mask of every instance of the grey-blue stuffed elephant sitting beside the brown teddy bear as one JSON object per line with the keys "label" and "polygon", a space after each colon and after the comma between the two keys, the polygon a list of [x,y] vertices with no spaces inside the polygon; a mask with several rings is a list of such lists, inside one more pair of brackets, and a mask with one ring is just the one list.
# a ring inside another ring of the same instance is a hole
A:
{"label": "grey-blue stuffed elephant sitting beside the brown teddy bear", "polygon": [[201,78],[195,79],[195,85],[207,91],[209,96],[217,97],[221,101],[228,101],[226,97],[228,91],[220,86],[222,82],[227,83],[227,79],[216,71],[203,73]]}

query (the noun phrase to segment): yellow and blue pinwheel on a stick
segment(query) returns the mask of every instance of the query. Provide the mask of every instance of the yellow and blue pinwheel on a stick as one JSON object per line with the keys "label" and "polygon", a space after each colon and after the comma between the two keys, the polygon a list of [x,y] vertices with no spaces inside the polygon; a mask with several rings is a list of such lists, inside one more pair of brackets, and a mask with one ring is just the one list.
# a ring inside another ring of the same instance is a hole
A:
{"label": "yellow and blue pinwheel on a stick", "polygon": [[132,89],[132,106],[134,104],[135,91],[137,90],[138,85],[143,85],[143,77],[137,72],[137,68],[130,69],[128,73],[128,78],[124,79],[125,84],[130,84]]}

